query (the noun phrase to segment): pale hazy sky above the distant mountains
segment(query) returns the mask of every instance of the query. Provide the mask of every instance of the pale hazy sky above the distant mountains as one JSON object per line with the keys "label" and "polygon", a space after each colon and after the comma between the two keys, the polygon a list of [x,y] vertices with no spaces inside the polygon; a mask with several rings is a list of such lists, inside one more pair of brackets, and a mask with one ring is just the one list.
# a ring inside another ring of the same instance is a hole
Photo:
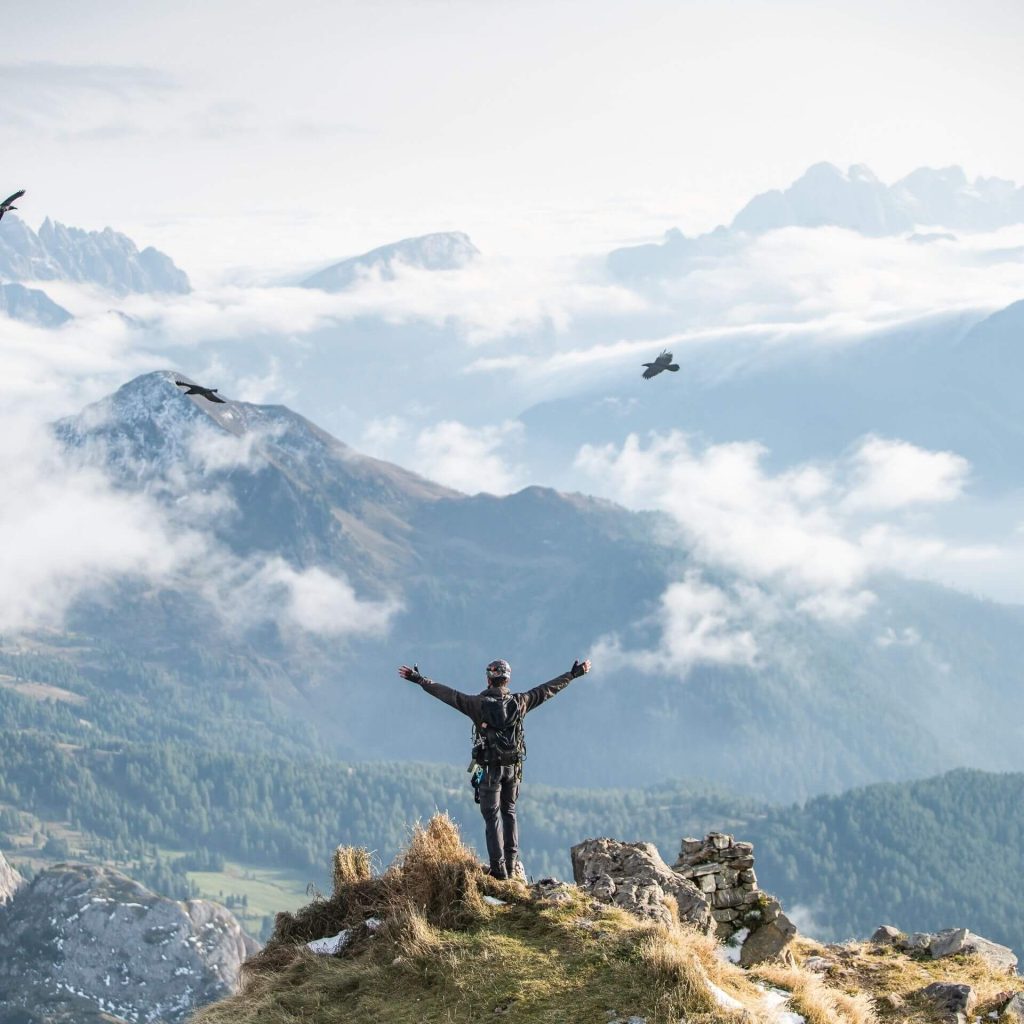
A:
{"label": "pale hazy sky above the distant mountains", "polygon": [[1024,5],[40,0],[3,179],[194,273],[462,228],[488,251],[707,229],[809,164],[1024,179]]}

